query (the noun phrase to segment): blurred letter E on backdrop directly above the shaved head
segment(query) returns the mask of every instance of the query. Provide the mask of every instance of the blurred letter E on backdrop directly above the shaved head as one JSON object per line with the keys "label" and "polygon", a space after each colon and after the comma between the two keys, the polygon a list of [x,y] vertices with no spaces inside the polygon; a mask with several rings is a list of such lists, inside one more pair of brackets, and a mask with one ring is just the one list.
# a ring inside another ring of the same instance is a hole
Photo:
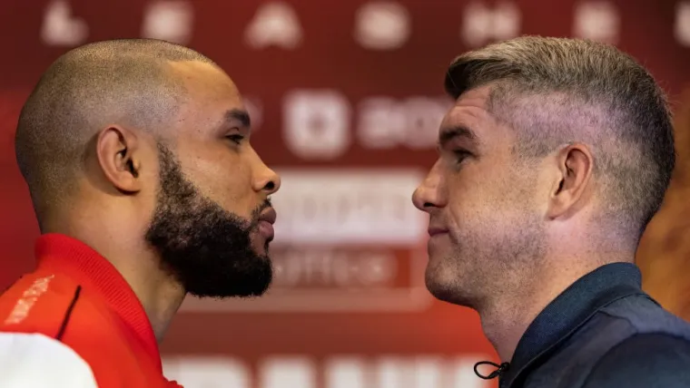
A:
{"label": "blurred letter E on backdrop directly above the shaved head", "polygon": [[143,16],[144,38],[188,44],[192,37],[194,9],[188,1],[158,1],[149,5]]}

